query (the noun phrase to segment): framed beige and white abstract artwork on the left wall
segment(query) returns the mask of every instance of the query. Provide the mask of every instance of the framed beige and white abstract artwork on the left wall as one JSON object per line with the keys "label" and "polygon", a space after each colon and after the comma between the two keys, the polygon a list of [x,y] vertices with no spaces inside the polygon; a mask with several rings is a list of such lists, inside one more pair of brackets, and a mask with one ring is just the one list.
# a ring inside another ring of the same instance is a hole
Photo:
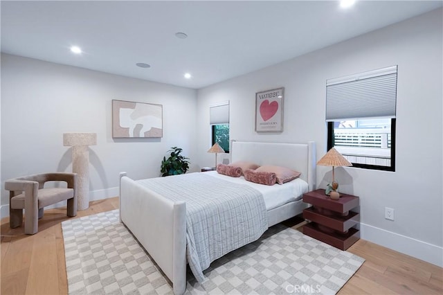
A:
{"label": "framed beige and white abstract artwork on the left wall", "polygon": [[163,106],[112,100],[112,137],[162,137]]}

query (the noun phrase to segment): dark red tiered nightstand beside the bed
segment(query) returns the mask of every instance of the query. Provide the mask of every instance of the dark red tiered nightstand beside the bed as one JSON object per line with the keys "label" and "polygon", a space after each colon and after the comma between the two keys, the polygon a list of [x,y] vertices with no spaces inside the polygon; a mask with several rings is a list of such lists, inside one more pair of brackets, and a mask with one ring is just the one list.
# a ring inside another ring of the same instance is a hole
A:
{"label": "dark red tiered nightstand beside the bed", "polygon": [[303,233],[346,250],[360,238],[360,231],[355,228],[360,214],[350,211],[359,206],[360,199],[353,195],[340,195],[338,200],[330,199],[323,189],[303,195],[303,202],[312,204],[303,211],[303,217],[311,221],[303,226]]}

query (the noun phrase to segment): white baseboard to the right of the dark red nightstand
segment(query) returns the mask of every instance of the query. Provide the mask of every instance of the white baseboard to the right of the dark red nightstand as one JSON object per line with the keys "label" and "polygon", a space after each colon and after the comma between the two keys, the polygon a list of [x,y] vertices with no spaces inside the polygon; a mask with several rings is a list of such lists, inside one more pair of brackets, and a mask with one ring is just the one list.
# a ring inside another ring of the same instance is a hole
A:
{"label": "white baseboard to the right of the dark red nightstand", "polygon": [[443,267],[443,247],[363,223],[360,224],[360,238]]}

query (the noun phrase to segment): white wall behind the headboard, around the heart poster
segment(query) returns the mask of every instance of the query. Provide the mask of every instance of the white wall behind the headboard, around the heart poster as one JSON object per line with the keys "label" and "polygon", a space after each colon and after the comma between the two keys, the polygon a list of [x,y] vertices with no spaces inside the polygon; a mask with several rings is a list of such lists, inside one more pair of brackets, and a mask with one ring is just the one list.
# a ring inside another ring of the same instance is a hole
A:
{"label": "white wall behind the headboard, around the heart poster", "polygon": [[[398,65],[396,172],[337,168],[343,193],[361,197],[361,235],[422,260],[443,265],[442,10],[323,48],[198,91],[199,163],[206,154],[208,107],[230,100],[230,138],[317,143],[326,152],[325,82]],[[284,87],[284,132],[257,134],[255,92]],[[318,167],[318,187],[331,169]],[[395,221],[384,219],[385,206]]]}

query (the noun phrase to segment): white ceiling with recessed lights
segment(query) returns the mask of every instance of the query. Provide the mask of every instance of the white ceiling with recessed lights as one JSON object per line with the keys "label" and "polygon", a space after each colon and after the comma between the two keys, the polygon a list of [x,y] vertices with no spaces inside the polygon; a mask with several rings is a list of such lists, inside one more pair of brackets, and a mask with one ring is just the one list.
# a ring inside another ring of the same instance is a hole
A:
{"label": "white ceiling with recessed lights", "polygon": [[[1,52],[200,89],[439,7],[442,1],[356,1],[348,9],[338,1],[1,1]],[[83,53],[71,53],[73,45]],[[192,78],[183,78],[187,72]]]}

